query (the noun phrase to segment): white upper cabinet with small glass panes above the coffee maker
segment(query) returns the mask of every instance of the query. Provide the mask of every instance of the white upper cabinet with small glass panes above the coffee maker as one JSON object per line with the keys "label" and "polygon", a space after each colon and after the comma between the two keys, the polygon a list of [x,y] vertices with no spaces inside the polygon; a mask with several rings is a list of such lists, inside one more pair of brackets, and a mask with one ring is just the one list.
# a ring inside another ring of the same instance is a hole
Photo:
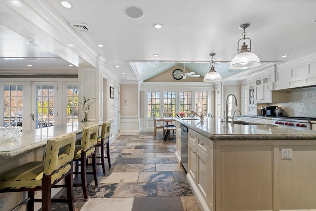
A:
{"label": "white upper cabinet with small glass panes above the coffee maker", "polygon": [[270,82],[269,75],[255,78],[255,102],[256,103],[270,103],[272,90],[273,90],[273,83]]}

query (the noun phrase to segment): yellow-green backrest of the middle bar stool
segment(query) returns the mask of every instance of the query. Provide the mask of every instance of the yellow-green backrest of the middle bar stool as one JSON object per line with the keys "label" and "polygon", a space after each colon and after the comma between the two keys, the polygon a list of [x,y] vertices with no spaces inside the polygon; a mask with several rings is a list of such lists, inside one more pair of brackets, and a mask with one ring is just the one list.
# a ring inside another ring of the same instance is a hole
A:
{"label": "yellow-green backrest of the middle bar stool", "polygon": [[84,127],[82,131],[81,150],[88,151],[97,144],[99,125]]}

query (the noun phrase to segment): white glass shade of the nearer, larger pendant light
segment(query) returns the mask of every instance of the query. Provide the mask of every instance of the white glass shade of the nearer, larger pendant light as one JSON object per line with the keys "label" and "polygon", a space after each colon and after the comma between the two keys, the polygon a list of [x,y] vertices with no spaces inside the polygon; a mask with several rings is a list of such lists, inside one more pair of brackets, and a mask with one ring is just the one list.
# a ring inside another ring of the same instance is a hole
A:
{"label": "white glass shade of the nearer, larger pendant light", "polygon": [[250,51],[239,52],[232,60],[231,69],[248,69],[258,67],[260,65],[258,56]]}

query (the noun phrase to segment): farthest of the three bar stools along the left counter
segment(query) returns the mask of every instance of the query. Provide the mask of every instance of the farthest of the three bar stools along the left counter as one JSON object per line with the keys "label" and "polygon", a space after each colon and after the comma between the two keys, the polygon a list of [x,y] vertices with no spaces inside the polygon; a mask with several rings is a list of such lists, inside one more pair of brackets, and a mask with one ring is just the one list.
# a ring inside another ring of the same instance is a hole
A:
{"label": "farthest of the three bar stools along the left counter", "polygon": [[[111,160],[110,160],[110,130],[111,130],[111,121],[103,122],[101,128],[101,136],[98,137],[98,142],[96,147],[100,147],[100,156],[97,158],[101,159],[101,163],[97,163],[97,165],[102,165],[103,175],[105,176],[105,161],[104,159],[108,159],[109,168],[111,168]],[[104,155],[104,146],[107,145],[107,156]]]}

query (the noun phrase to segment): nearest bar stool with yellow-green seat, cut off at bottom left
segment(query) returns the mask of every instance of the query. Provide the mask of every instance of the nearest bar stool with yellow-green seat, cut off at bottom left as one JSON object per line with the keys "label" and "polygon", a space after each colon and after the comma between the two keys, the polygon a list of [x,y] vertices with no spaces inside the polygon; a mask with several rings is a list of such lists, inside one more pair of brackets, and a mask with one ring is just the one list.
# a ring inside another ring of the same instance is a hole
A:
{"label": "nearest bar stool with yellow-green seat, cut off at bottom left", "polygon": [[[51,202],[67,202],[75,211],[73,165],[76,133],[67,133],[47,140],[44,161],[33,161],[0,174],[0,192],[28,192],[27,210],[34,210],[34,202],[41,202],[42,211],[51,210]],[[60,149],[62,152],[60,153]],[[65,178],[67,199],[51,199],[51,188]],[[35,191],[41,199],[35,199]]]}

